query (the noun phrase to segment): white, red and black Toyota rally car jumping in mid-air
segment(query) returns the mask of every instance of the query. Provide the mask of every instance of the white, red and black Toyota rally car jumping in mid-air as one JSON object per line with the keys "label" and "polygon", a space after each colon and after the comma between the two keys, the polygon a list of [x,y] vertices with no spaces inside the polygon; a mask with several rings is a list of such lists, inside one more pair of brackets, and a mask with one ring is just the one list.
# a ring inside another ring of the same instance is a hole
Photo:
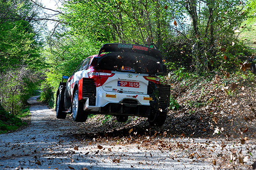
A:
{"label": "white, red and black Toyota rally car jumping in mid-air", "polygon": [[56,116],[85,122],[88,114],[147,117],[150,125],[161,126],[167,116],[170,86],[160,84],[165,74],[160,51],[134,44],[105,44],[98,55],[81,62],[56,94]]}

